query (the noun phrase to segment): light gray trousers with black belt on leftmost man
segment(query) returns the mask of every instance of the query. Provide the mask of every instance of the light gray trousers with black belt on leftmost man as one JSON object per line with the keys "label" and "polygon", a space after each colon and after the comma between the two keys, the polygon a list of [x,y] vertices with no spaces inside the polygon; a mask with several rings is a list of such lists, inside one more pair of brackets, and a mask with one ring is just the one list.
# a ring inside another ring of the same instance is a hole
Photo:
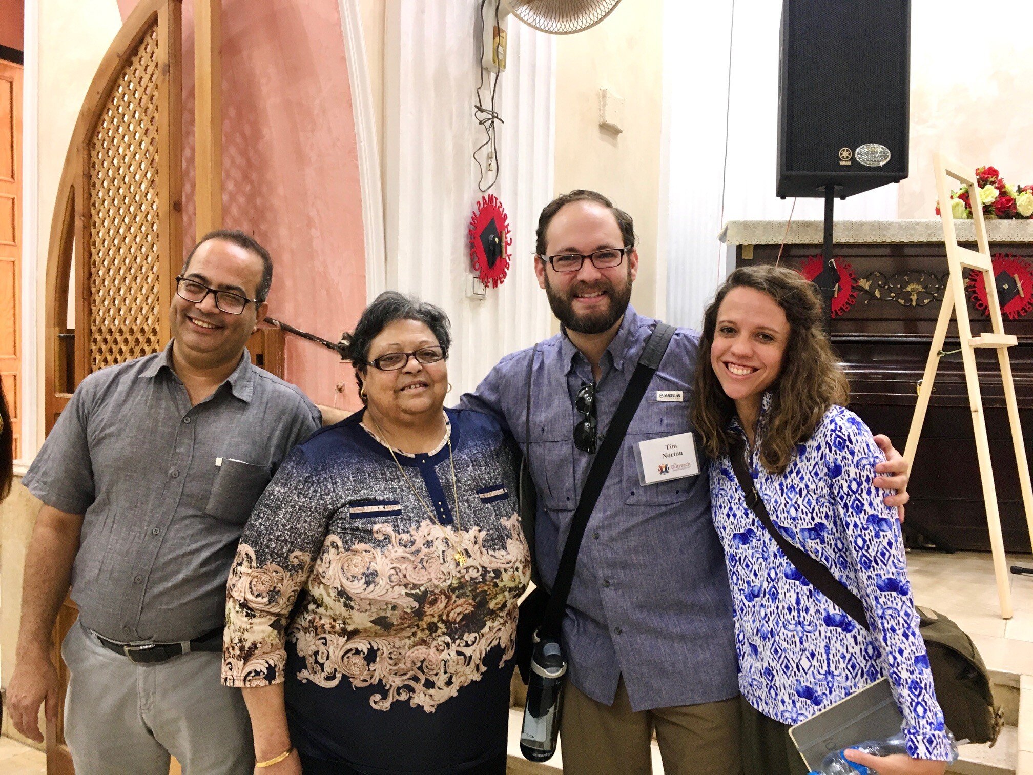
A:
{"label": "light gray trousers with black belt on leftmost man", "polygon": [[136,664],[81,624],[61,646],[68,671],[65,742],[76,775],[250,775],[251,723],[240,689],[219,682],[222,654]]}

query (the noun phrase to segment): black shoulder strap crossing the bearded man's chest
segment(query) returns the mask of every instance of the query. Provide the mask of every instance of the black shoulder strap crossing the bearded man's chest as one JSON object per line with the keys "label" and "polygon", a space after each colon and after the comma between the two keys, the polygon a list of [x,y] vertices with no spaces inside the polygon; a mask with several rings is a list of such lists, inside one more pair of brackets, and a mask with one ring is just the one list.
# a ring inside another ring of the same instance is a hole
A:
{"label": "black shoulder strap crossing the bearded man's chest", "polygon": [[643,396],[646,395],[646,390],[653,380],[653,375],[659,368],[663,353],[667,351],[667,345],[674,335],[675,327],[662,322],[657,323],[653,333],[650,334],[650,338],[643,348],[643,353],[638,358],[635,371],[624,391],[624,396],[621,397],[621,403],[617,405],[614,419],[609,421],[609,428],[606,429],[599,451],[592,461],[581,498],[577,499],[577,507],[574,509],[570,524],[570,533],[563,546],[560,568],[556,574],[556,581],[553,583],[553,589],[550,593],[549,607],[545,609],[545,617],[540,630],[544,636],[559,638],[560,628],[563,626],[563,615],[566,612],[567,597],[570,595],[570,585],[574,580],[574,566],[577,564],[577,552],[585,535],[585,528],[588,527],[592,509],[595,508],[595,503],[599,500],[602,486],[606,483],[609,469],[614,466],[614,460],[617,458],[624,436],[628,432],[628,426],[631,425],[631,419],[634,417],[638,404],[641,403]]}

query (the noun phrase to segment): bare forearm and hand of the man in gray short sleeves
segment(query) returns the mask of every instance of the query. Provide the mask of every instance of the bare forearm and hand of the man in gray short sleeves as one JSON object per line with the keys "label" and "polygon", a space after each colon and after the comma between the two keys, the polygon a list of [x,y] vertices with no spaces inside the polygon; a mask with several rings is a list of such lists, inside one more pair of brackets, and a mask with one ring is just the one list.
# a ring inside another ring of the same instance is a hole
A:
{"label": "bare forearm and hand of the man in gray short sleeves", "polygon": [[49,721],[57,720],[59,688],[51,659],[51,633],[68,593],[82,529],[83,515],[44,505],[25,556],[22,626],[14,675],[7,687],[7,710],[14,729],[37,743],[43,742],[39,706],[44,706]]}

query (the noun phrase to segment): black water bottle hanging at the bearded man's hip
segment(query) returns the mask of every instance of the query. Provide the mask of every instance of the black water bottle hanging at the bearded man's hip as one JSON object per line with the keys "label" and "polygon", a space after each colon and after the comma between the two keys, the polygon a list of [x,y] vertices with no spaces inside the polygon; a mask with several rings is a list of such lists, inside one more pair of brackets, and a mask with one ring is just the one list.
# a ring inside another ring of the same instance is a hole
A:
{"label": "black water bottle hanging at the bearded man's hip", "polygon": [[560,734],[560,701],[567,675],[567,660],[559,641],[534,637],[531,678],[524,706],[520,749],[530,762],[547,762],[556,753]]}

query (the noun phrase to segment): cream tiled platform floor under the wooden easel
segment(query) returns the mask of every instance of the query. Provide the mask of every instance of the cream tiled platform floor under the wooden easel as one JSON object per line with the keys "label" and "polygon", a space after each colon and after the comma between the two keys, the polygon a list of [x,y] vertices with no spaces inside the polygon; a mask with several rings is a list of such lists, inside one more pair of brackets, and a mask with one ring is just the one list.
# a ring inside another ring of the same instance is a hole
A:
{"label": "cream tiled platform floor under the wooden easel", "polygon": [[[1033,567],[1033,557],[1009,556],[1007,565]],[[1033,675],[1033,576],[1009,574],[1014,616],[1004,620],[990,553],[915,550],[908,553],[908,575],[915,602],[953,619],[988,668]]]}

